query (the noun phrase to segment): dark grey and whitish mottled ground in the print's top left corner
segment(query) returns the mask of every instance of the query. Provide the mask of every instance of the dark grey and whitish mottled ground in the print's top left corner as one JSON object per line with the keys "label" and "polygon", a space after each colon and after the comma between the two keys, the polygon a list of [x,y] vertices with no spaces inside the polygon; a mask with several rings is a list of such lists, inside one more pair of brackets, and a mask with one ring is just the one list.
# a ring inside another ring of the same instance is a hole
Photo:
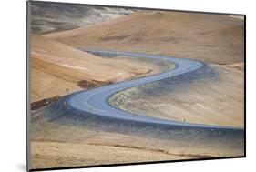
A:
{"label": "dark grey and whitish mottled ground in the print's top left corner", "polygon": [[31,3],[31,30],[46,34],[108,21],[135,10],[103,6],[66,5],[54,2]]}

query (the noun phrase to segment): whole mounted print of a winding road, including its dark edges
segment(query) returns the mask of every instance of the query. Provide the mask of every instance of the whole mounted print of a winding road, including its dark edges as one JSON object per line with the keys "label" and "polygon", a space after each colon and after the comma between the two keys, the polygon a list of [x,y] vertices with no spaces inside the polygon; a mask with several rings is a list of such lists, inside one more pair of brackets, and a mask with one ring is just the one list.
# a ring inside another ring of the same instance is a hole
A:
{"label": "whole mounted print of a winding road, including its dark edges", "polygon": [[246,157],[246,15],[26,6],[27,171]]}

